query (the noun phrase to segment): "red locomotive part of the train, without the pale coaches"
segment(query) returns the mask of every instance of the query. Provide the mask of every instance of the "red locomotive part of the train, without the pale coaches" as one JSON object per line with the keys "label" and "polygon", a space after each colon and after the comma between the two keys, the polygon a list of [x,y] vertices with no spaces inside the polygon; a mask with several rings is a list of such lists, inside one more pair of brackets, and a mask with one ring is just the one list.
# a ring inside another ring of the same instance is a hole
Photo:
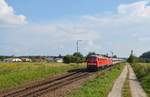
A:
{"label": "red locomotive part of the train, without the pale coaches", "polygon": [[98,70],[112,65],[112,58],[103,57],[100,55],[91,55],[87,58],[87,69]]}

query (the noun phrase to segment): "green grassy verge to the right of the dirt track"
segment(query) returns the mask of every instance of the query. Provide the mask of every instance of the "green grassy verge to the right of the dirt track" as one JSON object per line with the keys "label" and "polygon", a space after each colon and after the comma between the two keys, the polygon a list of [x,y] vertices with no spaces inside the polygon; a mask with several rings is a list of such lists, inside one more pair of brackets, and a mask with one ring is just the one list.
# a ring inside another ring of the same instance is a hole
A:
{"label": "green grassy verge to the right of the dirt track", "polygon": [[138,80],[150,97],[150,63],[132,64]]}

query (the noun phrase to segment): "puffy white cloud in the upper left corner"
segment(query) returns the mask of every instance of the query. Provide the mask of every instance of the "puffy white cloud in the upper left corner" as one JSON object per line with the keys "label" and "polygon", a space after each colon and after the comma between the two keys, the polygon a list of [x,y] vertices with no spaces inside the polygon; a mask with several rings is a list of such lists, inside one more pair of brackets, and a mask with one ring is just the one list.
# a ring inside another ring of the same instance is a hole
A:
{"label": "puffy white cloud in the upper left corner", "polygon": [[0,0],[0,25],[20,25],[26,24],[24,15],[16,15],[14,9],[5,0]]}

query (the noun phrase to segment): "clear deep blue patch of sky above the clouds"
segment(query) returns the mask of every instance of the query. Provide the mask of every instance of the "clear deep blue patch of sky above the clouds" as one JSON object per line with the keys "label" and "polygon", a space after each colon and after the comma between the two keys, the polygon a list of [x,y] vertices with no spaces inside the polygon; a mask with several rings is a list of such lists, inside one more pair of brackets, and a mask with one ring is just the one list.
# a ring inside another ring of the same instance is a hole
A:
{"label": "clear deep blue patch of sky above the clouds", "polygon": [[138,0],[6,0],[16,13],[23,13],[30,22],[46,22],[82,15],[114,13],[121,3]]}

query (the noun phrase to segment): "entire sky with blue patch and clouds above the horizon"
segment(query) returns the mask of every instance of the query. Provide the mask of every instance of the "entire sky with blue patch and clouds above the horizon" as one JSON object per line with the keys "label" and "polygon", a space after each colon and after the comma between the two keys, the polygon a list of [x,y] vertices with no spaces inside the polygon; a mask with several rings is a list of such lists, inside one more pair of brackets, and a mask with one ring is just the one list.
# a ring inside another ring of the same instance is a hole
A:
{"label": "entire sky with blue patch and clouds above the horizon", "polygon": [[149,0],[0,0],[0,55],[150,50]]}

